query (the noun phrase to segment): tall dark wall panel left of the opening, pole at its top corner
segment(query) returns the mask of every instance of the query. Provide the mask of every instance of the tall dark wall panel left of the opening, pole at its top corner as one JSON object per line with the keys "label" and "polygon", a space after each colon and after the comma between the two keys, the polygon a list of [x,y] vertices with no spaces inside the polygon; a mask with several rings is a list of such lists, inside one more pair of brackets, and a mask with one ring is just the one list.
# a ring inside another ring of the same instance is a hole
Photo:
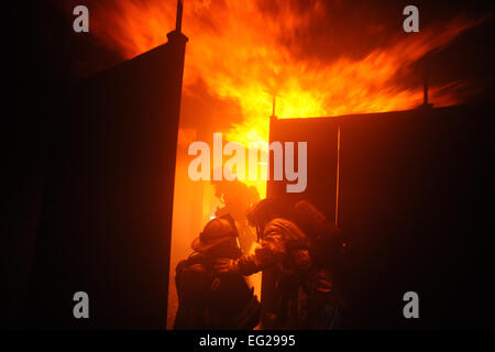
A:
{"label": "tall dark wall panel left of the opening, pole at its top corner", "polygon": [[[61,102],[25,323],[165,328],[187,37],[85,79]],[[75,319],[86,292],[90,319]]]}

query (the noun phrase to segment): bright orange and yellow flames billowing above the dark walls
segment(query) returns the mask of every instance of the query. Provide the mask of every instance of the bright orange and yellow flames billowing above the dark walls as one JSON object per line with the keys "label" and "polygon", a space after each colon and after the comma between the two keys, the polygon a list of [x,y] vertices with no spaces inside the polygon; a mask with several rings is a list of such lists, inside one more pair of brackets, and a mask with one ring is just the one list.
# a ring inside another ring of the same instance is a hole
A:
{"label": "bright orange and yellow flames billowing above the dark walls", "polygon": [[[107,1],[95,7],[92,30],[124,58],[163,44],[165,33],[175,25],[175,0]],[[422,87],[407,87],[397,74],[475,24],[452,20],[415,34],[398,28],[397,37],[386,47],[361,58],[342,53],[323,62],[301,57],[287,45],[324,15],[328,8],[322,1],[312,1],[304,11],[292,1],[273,1],[276,16],[261,7],[255,0],[186,1],[183,32],[190,41],[184,94],[191,94],[194,84],[202,80],[211,95],[234,101],[242,122],[231,125],[228,140],[245,146],[255,142],[265,148],[273,95],[282,119],[414,108],[421,102]],[[333,40],[339,40],[338,34]],[[459,102],[448,88],[431,87],[436,106]],[[256,183],[256,187],[264,195],[264,185]]]}

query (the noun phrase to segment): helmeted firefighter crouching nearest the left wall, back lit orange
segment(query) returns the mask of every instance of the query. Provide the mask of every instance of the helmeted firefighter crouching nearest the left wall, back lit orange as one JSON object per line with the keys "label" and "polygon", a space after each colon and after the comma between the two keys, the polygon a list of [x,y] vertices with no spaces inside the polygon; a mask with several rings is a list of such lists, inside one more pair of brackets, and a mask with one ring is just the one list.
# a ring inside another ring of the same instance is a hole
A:
{"label": "helmeted firefighter crouching nearest the left wall, back lit orange", "polygon": [[241,257],[238,235],[230,216],[215,218],[193,242],[194,253],[177,264],[178,309],[174,329],[244,330],[257,324],[260,302],[245,277],[213,270],[219,257]]}

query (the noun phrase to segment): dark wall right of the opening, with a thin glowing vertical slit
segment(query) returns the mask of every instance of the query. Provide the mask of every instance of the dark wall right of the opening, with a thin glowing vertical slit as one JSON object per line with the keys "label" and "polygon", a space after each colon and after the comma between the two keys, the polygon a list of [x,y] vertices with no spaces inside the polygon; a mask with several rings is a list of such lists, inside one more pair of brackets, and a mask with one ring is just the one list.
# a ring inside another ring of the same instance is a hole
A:
{"label": "dark wall right of the opening, with a thin glowing vertical slit", "polygon": [[[465,106],[272,121],[272,141],[308,142],[308,187],[270,182],[268,195],[309,199],[332,222],[340,127],[338,222],[351,244],[342,327],[488,326],[492,117],[491,106]],[[410,290],[420,319],[404,318]]]}

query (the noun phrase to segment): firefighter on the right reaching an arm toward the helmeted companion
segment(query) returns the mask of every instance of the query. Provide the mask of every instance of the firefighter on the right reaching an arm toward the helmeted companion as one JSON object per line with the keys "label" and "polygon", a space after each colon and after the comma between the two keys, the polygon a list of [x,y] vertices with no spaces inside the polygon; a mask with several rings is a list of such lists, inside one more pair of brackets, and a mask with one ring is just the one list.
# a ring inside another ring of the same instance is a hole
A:
{"label": "firefighter on the right reaching an arm toward the helmeted companion", "polygon": [[336,308],[341,305],[328,263],[322,258],[326,249],[317,250],[323,244],[333,245],[321,235],[327,230],[324,217],[318,219],[316,208],[307,205],[304,201],[287,209],[275,199],[260,201],[248,216],[258,233],[260,246],[251,255],[216,262],[219,273],[251,275],[268,268],[276,271],[275,302],[266,307],[265,314],[272,329],[332,329]]}

